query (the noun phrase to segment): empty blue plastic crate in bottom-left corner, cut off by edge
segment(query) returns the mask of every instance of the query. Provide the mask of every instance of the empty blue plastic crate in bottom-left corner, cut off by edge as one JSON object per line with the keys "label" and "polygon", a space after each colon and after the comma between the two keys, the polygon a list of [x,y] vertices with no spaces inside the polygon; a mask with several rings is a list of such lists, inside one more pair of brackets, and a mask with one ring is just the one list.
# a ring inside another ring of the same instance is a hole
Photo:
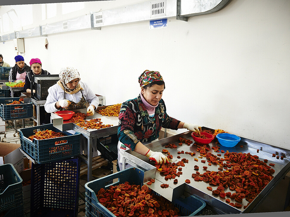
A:
{"label": "empty blue plastic crate in bottom-left corner, cut off by edge", "polygon": [[[23,210],[22,179],[10,163],[0,166],[0,213],[16,207]],[[23,212],[22,212],[23,215]]]}

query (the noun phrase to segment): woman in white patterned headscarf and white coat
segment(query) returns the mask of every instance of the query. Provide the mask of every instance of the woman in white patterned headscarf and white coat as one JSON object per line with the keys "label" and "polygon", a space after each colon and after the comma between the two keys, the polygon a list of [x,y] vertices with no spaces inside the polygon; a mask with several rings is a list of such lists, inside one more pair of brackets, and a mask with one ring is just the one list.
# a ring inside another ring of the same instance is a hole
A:
{"label": "woman in white patterned headscarf and white coat", "polygon": [[[99,104],[99,98],[85,82],[80,81],[78,71],[73,67],[62,68],[59,79],[55,85],[48,88],[48,96],[44,104],[46,112],[83,109],[86,108],[88,102],[90,106],[87,108],[87,115],[94,115]],[[84,141],[84,138],[81,140]],[[81,142],[81,150],[84,150],[84,154],[87,154],[87,148],[84,145],[84,142]],[[93,156],[98,156],[95,142],[93,142],[93,149]]]}

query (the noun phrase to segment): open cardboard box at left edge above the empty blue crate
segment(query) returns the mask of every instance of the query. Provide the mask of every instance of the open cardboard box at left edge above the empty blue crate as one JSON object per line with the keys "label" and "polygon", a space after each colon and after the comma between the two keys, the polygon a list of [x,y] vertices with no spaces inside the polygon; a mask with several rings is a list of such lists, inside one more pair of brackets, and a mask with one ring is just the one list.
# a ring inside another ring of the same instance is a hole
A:
{"label": "open cardboard box at left edge above the empty blue crate", "polygon": [[24,154],[20,152],[20,144],[0,142],[0,165],[11,163],[16,171],[24,170]]}

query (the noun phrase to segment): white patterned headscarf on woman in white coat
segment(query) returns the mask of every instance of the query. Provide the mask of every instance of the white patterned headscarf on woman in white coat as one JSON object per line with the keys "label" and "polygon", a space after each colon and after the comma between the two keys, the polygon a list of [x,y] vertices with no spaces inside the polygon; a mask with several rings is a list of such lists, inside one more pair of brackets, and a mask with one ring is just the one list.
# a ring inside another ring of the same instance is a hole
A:
{"label": "white patterned headscarf on woman in white coat", "polygon": [[67,87],[67,83],[76,78],[78,78],[78,81],[81,80],[78,70],[76,70],[73,67],[62,68],[61,71],[59,72],[59,79],[67,93],[75,92],[75,90],[80,89],[79,84],[76,85],[73,90]]}

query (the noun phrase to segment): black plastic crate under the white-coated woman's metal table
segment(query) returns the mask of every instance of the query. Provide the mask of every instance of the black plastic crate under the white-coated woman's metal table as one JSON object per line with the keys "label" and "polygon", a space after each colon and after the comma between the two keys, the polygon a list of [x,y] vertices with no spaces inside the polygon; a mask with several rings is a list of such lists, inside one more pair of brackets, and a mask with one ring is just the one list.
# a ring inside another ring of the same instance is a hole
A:
{"label": "black plastic crate under the white-coated woman's metal table", "polygon": [[104,159],[112,162],[118,159],[118,134],[98,138],[97,149]]}

